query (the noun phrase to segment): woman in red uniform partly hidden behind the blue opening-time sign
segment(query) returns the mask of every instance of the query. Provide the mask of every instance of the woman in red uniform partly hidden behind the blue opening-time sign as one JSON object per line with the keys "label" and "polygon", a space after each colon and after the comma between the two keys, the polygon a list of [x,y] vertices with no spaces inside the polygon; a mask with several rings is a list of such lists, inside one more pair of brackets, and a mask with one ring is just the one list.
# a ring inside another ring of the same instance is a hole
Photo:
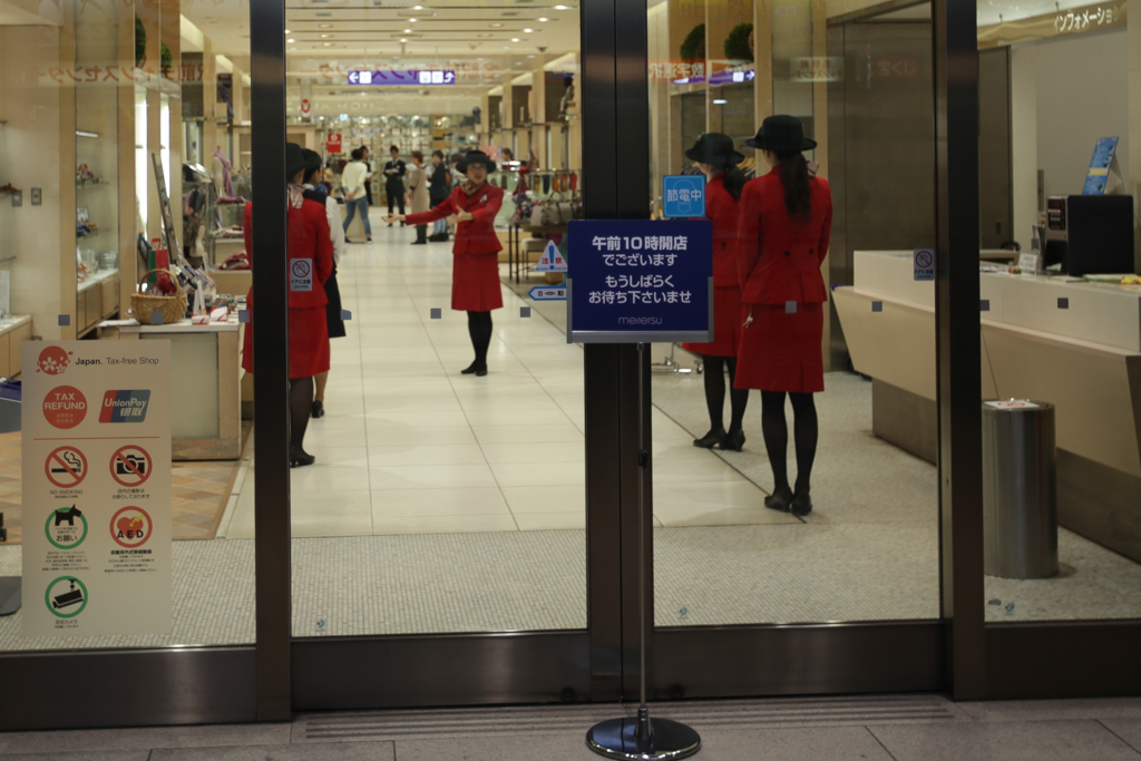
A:
{"label": "woman in red uniform partly hidden behind the blue opening-time sign", "polygon": [[[709,132],[686,151],[686,157],[697,162],[705,172],[705,219],[713,222],[713,342],[683,343],[688,351],[703,357],[705,364],[705,406],[710,413],[710,432],[694,439],[694,446],[741,452],[745,444],[742,421],[748,403],[748,389],[731,388],[737,375],[737,343],[741,339],[741,284],[737,280],[737,201],[745,186],[745,176],[737,164],[745,156],[733,148],[733,138]],[[725,430],[725,370],[729,369],[729,391],[733,416]]]}

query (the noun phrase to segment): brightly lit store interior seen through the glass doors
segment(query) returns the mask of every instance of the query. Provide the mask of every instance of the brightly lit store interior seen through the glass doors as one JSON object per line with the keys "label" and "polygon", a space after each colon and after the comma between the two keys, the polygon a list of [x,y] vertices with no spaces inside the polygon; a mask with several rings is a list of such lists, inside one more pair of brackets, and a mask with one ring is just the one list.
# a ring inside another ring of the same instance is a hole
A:
{"label": "brightly lit store interior seen through the glass doors", "polygon": [[[289,139],[321,154],[334,199],[350,152],[367,147],[372,172],[372,240],[354,220],[338,262],[350,318],[308,422],[316,462],[289,473],[293,632],[582,629],[583,350],[566,342],[565,301],[531,296],[561,285],[536,264],[549,242],[566,253],[590,193],[580,9],[414,3],[286,9]],[[0,377],[29,372],[30,340],[170,340],[177,371],[171,633],[31,639],[17,613],[0,617],[0,650],[253,641],[251,432],[283,412],[257,406],[241,362],[249,23],[245,0],[0,0]],[[703,358],[649,348],[655,621],[938,618],[934,291],[908,268],[936,236],[930,7],[662,0],[646,23],[649,216],[664,176],[697,171],[683,152],[703,132],[733,137],[755,176],[763,161],[744,141],[772,113],[818,141],[809,159],[835,207],[810,515],[763,507],[756,394],[742,451],[695,447],[711,424]],[[1060,525],[1057,575],[986,577],[989,622],[1141,616],[1141,286],[1120,281],[1141,248],[1124,268],[1034,274],[1050,259],[1047,200],[1083,193],[1099,139],[1117,138],[1107,194],[1136,195],[1135,49],[1120,6],[979,3],[980,382],[984,398],[1055,406]],[[385,79],[407,72],[440,81]],[[385,220],[390,146],[407,165],[414,151],[430,162],[476,147],[499,164],[503,308],[486,377],[460,373],[471,346],[451,309],[452,243],[416,245]],[[139,324],[138,284],[162,261],[148,248],[184,265],[221,318]],[[1042,261],[1022,270],[1019,253]],[[7,430],[0,576],[18,576],[33,508]]]}

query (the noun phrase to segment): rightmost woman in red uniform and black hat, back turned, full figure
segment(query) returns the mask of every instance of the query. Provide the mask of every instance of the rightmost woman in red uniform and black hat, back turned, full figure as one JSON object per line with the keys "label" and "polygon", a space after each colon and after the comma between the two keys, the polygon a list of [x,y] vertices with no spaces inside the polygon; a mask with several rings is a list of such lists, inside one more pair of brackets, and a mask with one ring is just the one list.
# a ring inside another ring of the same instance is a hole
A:
{"label": "rightmost woman in red uniform and black hat, back turned, full figure", "polygon": [[[794,116],[769,116],[750,147],[772,170],[745,185],[741,196],[737,267],[744,330],[737,388],[761,391],[761,431],[774,489],[764,507],[804,516],[812,510],[809,481],[818,436],[812,394],[824,390],[820,341],[828,298],[820,265],[832,234],[832,193],[809,172],[802,151],[816,147]],[[785,394],[795,418],[796,485],[788,487]]]}

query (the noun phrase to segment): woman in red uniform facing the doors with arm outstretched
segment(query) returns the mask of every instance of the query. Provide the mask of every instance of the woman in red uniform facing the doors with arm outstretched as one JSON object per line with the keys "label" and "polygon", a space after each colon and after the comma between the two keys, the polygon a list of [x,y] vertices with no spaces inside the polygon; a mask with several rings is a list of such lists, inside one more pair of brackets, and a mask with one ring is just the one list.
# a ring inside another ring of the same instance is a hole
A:
{"label": "woman in red uniform facing the doors with arm outstretched", "polygon": [[487,181],[487,176],[495,171],[495,162],[483,151],[469,151],[456,169],[468,181],[452,191],[446,201],[419,214],[389,214],[388,222],[427,225],[455,214],[452,308],[468,313],[468,333],[476,350],[476,361],[460,372],[486,375],[492,309],[503,306],[499,276],[499,252],[503,244],[494,227],[495,214],[503,205],[503,189]]}

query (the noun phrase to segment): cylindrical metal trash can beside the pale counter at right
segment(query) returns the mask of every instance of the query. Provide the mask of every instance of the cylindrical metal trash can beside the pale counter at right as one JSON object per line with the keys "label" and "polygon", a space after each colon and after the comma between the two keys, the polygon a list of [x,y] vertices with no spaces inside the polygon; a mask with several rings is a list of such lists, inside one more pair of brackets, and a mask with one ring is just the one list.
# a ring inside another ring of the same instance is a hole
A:
{"label": "cylindrical metal trash can beside the pale counter at right", "polygon": [[1054,405],[982,403],[982,540],[989,576],[1058,574]]}

